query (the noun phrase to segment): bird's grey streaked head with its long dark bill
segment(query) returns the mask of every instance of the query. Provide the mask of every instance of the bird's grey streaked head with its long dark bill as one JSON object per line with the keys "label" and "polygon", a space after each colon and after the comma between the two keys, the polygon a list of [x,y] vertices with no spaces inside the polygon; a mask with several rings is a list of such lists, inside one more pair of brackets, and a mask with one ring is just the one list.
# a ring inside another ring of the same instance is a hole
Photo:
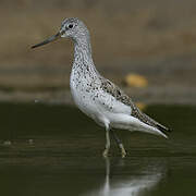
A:
{"label": "bird's grey streaked head with its long dark bill", "polygon": [[62,22],[61,28],[58,32],[58,34],[49,37],[42,42],[34,45],[32,48],[37,48],[39,46],[46,45],[48,42],[51,42],[53,40],[57,40],[59,38],[64,38],[64,37],[70,37],[73,40],[77,41],[78,39],[82,39],[83,37],[87,37],[88,34],[89,34],[88,29],[82,21],[79,21],[76,17],[70,17],[70,19],[65,19]]}

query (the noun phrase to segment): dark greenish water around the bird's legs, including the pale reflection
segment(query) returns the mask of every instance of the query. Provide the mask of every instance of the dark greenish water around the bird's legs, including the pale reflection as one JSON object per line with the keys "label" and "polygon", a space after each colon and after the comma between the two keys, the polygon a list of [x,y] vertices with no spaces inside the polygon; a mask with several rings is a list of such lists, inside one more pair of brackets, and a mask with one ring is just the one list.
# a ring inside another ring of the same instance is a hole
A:
{"label": "dark greenish water around the bird's legs, including the pale reflection", "polygon": [[1,103],[0,195],[196,195],[196,107],[146,112],[172,127],[170,138],[117,131],[128,156],[112,143],[103,159],[103,130],[77,109]]}

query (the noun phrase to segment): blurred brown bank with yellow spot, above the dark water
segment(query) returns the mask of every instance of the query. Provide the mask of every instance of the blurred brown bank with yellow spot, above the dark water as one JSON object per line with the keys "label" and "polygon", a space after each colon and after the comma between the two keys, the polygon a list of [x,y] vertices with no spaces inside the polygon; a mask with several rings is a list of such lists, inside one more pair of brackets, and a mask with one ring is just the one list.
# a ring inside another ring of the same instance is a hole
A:
{"label": "blurred brown bank with yellow spot, above the dark water", "polygon": [[134,100],[196,103],[196,1],[0,1],[0,100],[72,103],[73,44],[56,34],[79,17],[91,35],[95,64]]}

